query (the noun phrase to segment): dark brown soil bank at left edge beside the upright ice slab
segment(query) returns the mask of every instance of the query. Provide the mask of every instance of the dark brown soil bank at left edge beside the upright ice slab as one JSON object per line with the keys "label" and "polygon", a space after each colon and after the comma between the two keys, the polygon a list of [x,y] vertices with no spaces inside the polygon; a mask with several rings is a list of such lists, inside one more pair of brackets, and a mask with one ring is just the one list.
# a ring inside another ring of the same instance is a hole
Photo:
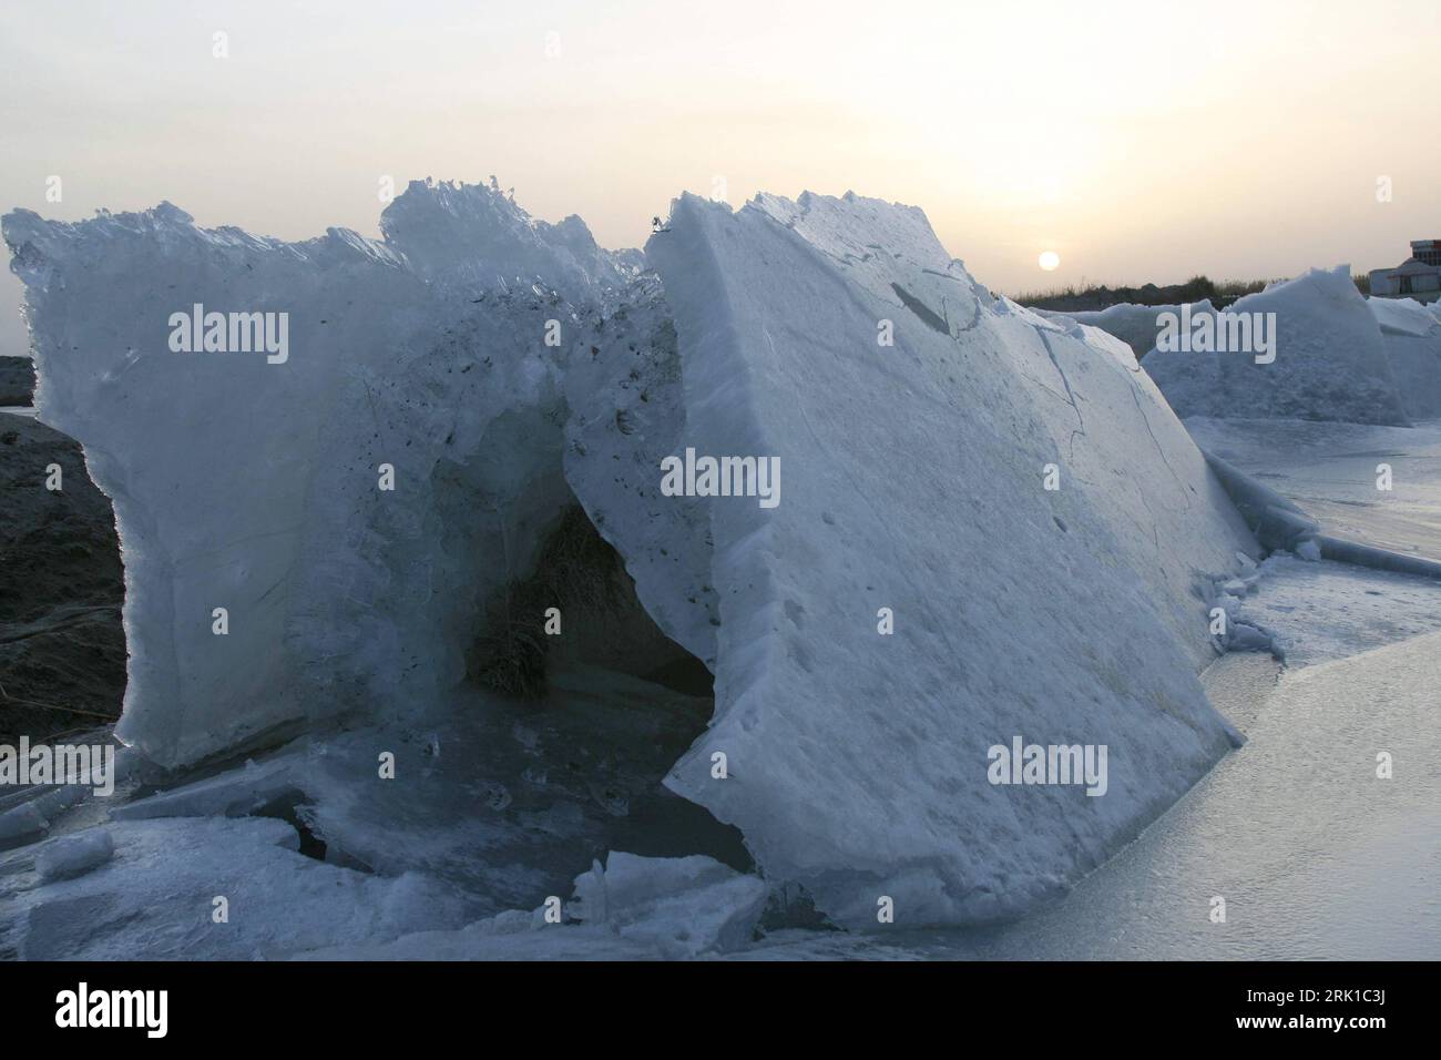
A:
{"label": "dark brown soil bank at left edge beside the upright ice slab", "polygon": [[122,599],[115,518],[79,443],[0,412],[0,743],[120,717]]}

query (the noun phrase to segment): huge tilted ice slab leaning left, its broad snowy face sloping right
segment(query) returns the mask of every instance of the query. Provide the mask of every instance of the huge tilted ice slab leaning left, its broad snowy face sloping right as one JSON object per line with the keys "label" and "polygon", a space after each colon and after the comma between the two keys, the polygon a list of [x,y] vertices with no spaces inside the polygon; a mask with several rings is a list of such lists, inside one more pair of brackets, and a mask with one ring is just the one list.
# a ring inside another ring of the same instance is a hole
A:
{"label": "huge tilted ice slab leaning left, its broad snowy face sloping right", "polygon": [[[646,252],[684,444],[782,469],[775,508],[708,502],[716,718],[667,780],[767,874],[853,924],[885,897],[1017,913],[1226,750],[1205,583],[1254,544],[1123,343],[993,300],[921,211],[852,195],[684,196]],[[991,785],[1014,737],[1105,744],[1107,793]]]}

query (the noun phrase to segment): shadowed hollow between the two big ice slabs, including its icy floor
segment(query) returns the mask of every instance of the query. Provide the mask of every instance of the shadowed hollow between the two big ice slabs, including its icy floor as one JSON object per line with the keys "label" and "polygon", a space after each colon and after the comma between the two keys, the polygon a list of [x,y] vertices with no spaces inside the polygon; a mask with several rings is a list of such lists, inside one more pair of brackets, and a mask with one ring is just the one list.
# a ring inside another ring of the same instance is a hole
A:
{"label": "shadowed hollow between the two big ice slabs, including its icy floor", "polygon": [[[517,463],[483,446],[431,477],[445,557],[428,590],[445,635],[431,661],[448,688],[179,773],[147,769],[114,816],[277,818],[300,854],[432,877],[467,916],[566,896],[610,851],[754,871],[739,829],[661,783],[710,724],[710,672],[661,633],[559,467]],[[378,776],[378,757],[393,770]]]}

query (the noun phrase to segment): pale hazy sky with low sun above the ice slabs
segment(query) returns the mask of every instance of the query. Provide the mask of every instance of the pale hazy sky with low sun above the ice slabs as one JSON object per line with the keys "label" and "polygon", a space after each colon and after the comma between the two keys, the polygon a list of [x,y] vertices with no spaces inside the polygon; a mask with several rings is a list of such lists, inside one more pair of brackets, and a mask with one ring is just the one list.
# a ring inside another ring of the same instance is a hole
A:
{"label": "pale hazy sky with low sun above the ice slabs", "polygon": [[375,235],[494,173],[623,247],[723,182],[915,203],[1009,293],[1365,270],[1441,237],[1438,53],[1438,0],[4,0],[0,209]]}

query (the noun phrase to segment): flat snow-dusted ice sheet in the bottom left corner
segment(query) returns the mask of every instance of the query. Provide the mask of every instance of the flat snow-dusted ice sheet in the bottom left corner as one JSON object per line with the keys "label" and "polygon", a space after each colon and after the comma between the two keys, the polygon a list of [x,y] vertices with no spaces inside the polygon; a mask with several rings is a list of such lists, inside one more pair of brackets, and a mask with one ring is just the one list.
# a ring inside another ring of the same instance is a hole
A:
{"label": "flat snow-dusted ice sheet in the bottom left corner", "polygon": [[464,920],[463,896],[431,880],[300,855],[284,821],[118,821],[105,831],[108,861],[48,885],[24,871],[33,848],[0,855],[0,936],[19,939],[22,958],[249,960]]}

